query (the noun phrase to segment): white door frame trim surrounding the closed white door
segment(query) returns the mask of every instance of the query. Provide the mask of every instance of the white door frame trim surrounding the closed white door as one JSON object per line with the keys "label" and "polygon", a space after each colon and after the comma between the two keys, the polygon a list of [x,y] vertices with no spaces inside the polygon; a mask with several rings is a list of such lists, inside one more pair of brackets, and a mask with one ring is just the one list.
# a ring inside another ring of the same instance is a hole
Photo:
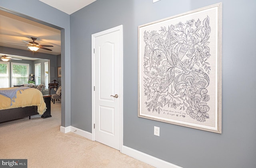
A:
{"label": "white door frame trim surrounding the closed white door", "polygon": [[122,146],[123,146],[123,25],[119,25],[116,27],[113,27],[111,29],[107,29],[105,31],[101,31],[99,33],[92,34],[92,141],[95,141],[95,129],[94,129],[94,123],[95,123],[95,92],[94,92],[94,86],[95,86],[95,60],[94,60],[94,43],[95,38],[101,35],[105,35],[108,33],[112,33],[114,31],[120,31],[120,95],[118,98],[120,98],[120,152],[122,152]]}

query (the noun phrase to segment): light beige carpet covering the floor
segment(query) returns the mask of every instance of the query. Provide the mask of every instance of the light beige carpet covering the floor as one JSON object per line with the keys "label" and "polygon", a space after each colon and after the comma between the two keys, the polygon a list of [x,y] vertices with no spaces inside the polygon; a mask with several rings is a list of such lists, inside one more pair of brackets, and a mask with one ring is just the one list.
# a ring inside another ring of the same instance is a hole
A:
{"label": "light beige carpet covering the floor", "polygon": [[0,158],[28,159],[28,168],[153,168],[74,133],[60,132],[60,102],[52,117],[0,123]]}

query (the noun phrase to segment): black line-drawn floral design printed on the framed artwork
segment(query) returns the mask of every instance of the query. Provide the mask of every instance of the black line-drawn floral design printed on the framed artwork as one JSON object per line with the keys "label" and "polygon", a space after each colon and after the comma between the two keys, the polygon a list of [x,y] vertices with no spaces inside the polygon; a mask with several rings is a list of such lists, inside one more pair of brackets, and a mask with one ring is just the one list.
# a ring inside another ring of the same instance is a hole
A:
{"label": "black line-drawn floral design printed on the framed artwork", "polygon": [[161,113],[168,106],[186,110],[200,122],[209,118],[209,20],[207,16],[203,21],[192,19],[144,31],[144,94],[148,111]]}

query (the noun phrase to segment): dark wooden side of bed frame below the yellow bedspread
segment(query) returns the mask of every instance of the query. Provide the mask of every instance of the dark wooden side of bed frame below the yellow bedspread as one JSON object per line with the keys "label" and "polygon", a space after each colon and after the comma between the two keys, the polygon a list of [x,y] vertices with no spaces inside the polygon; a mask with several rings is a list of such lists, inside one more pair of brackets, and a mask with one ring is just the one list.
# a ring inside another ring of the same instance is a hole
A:
{"label": "dark wooden side of bed frame below the yellow bedspread", "polygon": [[14,119],[20,119],[24,117],[29,117],[30,119],[31,115],[36,115],[36,114],[38,114],[37,106],[4,109],[4,110],[0,110],[0,123],[5,121],[11,121]]}

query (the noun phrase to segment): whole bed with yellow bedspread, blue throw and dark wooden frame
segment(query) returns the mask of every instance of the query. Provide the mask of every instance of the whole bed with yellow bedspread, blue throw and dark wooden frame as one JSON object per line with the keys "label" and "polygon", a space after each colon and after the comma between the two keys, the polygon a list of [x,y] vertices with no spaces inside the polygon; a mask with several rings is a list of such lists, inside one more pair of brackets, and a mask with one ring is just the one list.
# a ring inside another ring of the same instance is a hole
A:
{"label": "whole bed with yellow bedspread, blue throw and dark wooden frame", "polygon": [[44,114],[46,104],[36,88],[0,88],[0,123],[36,114]]}

